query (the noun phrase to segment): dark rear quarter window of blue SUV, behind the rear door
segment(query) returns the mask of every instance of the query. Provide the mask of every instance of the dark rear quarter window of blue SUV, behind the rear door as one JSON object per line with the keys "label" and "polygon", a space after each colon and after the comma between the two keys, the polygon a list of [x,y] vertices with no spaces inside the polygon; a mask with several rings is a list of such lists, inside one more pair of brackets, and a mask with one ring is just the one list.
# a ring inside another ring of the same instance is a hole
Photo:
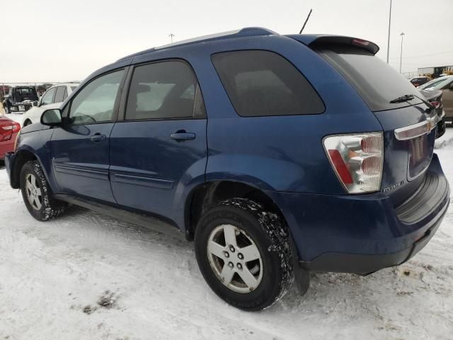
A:
{"label": "dark rear quarter window of blue SUV, behind the rear door", "polygon": [[311,84],[277,53],[222,52],[212,56],[212,63],[236,113],[243,117],[324,112]]}

